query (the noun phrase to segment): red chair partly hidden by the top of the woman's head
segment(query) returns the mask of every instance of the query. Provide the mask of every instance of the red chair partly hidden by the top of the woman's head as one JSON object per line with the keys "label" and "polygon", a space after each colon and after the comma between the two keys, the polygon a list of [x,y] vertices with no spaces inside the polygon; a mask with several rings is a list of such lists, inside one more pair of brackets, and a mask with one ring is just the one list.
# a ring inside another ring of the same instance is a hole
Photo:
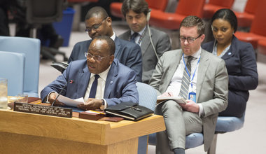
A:
{"label": "red chair partly hidden by the top of the woman's head", "polygon": [[231,8],[235,0],[209,0],[203,8],[203,18],[210,19],[221,8]]}

